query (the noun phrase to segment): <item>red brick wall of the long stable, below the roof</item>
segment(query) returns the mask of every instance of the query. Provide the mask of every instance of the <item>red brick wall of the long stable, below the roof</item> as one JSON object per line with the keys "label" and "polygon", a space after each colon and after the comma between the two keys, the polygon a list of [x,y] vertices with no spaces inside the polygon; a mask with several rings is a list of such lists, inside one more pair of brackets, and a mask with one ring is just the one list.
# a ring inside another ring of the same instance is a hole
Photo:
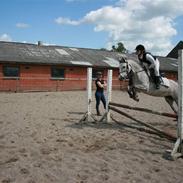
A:
{"label": "red brick wall of the long stable, below the roof", "polygon": [[[51,78],[49,65],[19,65],[20,77],[17,79],[4,78],[3,65],[0,64],[0,91],[65,91],[86,90],[87,68],[63,67],[65,79]],[[104,70],[104,79],[107,80],[107,70]],[[113,71],[113,89],[124,89],[127,83],[118,80],[118,69]],[[95,90],[95,81],[92,88]]]}

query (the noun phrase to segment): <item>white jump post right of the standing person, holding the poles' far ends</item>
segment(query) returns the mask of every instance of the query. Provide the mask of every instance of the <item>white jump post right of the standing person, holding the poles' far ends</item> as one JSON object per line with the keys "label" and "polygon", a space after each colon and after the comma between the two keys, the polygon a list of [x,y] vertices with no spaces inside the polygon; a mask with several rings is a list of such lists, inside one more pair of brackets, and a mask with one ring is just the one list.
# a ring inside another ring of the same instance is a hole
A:
{"label": "white jump post right of the standing person, holding the poles' far ends", "polygon": [[106,97],[106,111],[105,114],[99,121],[110,122],[110,111],[109,111],[109,103],[111,102],[112,98],[112,69],[109,69],[107,72],[107,97]]}

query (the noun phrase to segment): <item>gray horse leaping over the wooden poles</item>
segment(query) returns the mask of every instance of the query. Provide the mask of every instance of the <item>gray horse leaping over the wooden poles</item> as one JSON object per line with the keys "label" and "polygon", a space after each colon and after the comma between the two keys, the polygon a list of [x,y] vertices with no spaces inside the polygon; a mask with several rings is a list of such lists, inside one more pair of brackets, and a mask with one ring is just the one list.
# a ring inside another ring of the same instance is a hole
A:
{"label": "gray horse leaping over the wooden poles", "polygon": [[120,59],[119,72],[120,80],[127,79],[130,75],[135,91],[140,91],[152,96],[164,97],[172,110],[177,114],[177,109],[173,105],[175,102],[178,106],[177,82],[162,78],[160,89],[156,89],[154,82],[150,79],[148,70],[135,58],[125,59],[122,57]]}

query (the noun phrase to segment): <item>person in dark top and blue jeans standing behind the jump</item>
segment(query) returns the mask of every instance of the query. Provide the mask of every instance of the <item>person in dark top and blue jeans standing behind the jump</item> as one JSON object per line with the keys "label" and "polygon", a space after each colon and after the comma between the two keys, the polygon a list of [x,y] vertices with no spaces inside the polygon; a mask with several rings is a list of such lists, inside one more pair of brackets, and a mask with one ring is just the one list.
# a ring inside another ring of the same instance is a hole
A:
{"label": "person in dark top and blue jeans standing behind the jump", "polygon": [[106,99],[104,96],[104,87],[106,86],[105,81],[102,79],[102,73],[97,72],[97,79],[95,81],[96,84],[96,92],[95,92],[95,99],[96,99],[96,111],[97,115],[101,116],[100,110],[99,110],[99,105],[100,105],[100,100],[103,103],[104,109],[106,109]]}

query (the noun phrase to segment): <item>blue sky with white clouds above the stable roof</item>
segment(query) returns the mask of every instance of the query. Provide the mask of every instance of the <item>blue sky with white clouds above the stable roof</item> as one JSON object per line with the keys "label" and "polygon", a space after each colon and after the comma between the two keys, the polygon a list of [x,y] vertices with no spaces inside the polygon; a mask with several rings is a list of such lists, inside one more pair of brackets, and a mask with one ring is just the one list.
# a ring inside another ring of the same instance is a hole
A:
{"label": "blue sky with white clouds above the stable roof", "polygon": [[0,0],[0,41],[166,56],[183,40],[183,0]]}

